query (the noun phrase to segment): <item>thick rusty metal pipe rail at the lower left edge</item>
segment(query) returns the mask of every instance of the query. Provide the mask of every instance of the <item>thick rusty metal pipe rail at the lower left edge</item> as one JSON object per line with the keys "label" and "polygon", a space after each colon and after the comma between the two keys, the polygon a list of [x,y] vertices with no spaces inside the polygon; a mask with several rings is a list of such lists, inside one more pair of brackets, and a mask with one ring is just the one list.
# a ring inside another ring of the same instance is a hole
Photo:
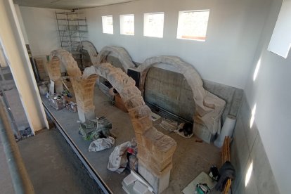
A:
{"label": "thick rusty metal pipe rail at the lower left edge", "polygon": [[25,169],[25,165],[18,150],[18,145],[15,142],[2,98],[0,99],[0,137],[15,193],[34,193],[32,182]]}

